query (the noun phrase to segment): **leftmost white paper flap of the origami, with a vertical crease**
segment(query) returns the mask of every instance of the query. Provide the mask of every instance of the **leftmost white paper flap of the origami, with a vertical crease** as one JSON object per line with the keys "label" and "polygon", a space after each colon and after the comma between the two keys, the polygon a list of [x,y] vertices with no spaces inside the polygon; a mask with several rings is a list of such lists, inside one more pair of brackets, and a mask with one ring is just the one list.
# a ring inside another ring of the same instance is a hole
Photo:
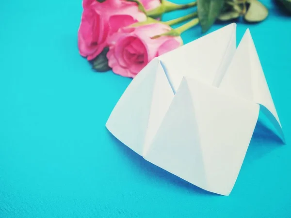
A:
{"label": "leftmost white paper flap of the origami, with a vertical crease", "polygon": [[108,130],[139,155],[153,139],[174,97],[158,59],[132,80],[114,107]]}

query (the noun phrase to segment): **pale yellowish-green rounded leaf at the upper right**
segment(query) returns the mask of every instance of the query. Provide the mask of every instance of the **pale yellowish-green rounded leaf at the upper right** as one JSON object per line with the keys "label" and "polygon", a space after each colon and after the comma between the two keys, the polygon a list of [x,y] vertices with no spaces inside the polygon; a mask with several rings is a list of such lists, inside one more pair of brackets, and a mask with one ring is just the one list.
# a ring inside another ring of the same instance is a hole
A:
{"label": "pale yellowish-green rounded leaf at the upper right", "polygon": [[249,8],[244,15],[244,19],[248,22],[259,22],[268,16],[268,9],[258,0],[247,0]]}

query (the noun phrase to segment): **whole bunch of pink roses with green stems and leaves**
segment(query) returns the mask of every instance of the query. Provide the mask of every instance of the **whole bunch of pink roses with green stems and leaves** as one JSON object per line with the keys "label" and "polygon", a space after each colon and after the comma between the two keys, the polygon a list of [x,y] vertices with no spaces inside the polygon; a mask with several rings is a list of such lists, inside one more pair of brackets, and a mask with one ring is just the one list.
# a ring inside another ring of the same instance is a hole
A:
{"label": "whole bunch of pink roses with green stems and leaves", "polygon": [[[288,0],[287,0],[288,1]],[[200,23],[207,31],[216,20],[243,16],[259,22],[268,15],[258,0],[197,0],[176,4],[167,0],[83,0],[78,47],[98,72],[134,78],[148,62],[183,45],[181,33]],[[189,15],[163,21],[167,12],[197,7]],[[189,21],[188,21],[189,20]],[[173,29],[171,26],[187,23]]]}

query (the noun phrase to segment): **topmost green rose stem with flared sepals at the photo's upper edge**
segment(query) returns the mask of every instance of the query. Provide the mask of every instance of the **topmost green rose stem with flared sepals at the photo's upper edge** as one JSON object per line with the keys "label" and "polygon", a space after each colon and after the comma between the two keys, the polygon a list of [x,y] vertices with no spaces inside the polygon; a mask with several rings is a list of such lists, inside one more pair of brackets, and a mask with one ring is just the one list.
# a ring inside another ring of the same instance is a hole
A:
{"label": "topmost green rose stem with flared sepals at the photo's upper edge", "polygon": [[170,1],[163,0],[162,4],[159,7],[147,11],[146,15],[153,18],[157,18],[166,12],[191,8],[191,7],[196,6],[196,4],[197,4],[196,1],[188,3],[188,4],[175,4]]}

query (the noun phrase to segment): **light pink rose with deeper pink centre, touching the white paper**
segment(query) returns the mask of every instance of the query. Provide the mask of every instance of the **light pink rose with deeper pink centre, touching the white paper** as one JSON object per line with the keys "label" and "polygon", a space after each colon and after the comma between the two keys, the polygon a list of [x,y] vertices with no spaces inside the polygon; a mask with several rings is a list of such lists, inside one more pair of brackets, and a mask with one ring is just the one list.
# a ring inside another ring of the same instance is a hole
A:
{"label": "light pink rose with deeper pink centre, touching the white paper", "polygon": [[161,36],[171,28],[162,23],[121,28],[108,38],[108,65],[113,72],[134,78],[148,62],[182,45],[180,36]]}

